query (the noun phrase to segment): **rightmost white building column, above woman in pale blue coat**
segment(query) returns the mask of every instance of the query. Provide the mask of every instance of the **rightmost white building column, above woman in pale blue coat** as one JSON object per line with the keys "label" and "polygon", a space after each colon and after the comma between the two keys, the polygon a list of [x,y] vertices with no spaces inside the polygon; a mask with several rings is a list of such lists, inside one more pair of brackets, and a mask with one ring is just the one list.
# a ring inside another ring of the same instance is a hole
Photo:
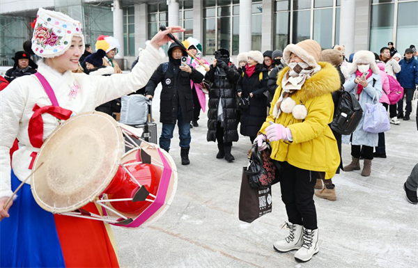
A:
{"label": "rightmost white building column, above woman in pale blue coat", "polygon": [[355,1],[353,0],[341,0],[339,33],[339,43],[337,45],[344,45],[346,47],[346,58],[348,58],[355,51]]}

